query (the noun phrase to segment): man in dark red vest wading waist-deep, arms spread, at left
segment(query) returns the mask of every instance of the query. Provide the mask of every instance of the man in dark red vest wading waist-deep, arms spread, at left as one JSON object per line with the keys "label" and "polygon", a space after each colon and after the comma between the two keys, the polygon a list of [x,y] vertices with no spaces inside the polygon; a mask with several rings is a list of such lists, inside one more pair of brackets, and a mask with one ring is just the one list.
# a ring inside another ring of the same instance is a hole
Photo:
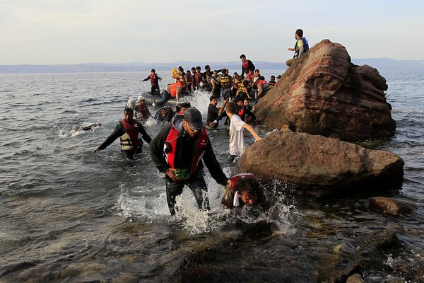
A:
{"label": "man in dark red vest wading waist-deep, arms spread, at left", "polygon": [[133,117],[134,110],[132,108],[125,108],[124,119],[119,121],[112,134],[93,153],[97,154],[119,138],[121,140],[122,157],[134,159],[134,154],[141,154],[143,148],[142,139],[150,143],[152,138],[147,134],[141,122],[133,119]]}

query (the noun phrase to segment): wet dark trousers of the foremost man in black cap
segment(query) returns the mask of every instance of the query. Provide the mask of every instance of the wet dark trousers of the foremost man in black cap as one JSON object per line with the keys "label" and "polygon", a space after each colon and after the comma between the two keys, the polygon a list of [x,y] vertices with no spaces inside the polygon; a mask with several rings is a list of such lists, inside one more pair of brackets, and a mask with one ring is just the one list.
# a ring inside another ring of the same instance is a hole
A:
{"label": "wet dark trousers of the foremost man in black cap", "polygon": [[[175,215],[175,197],[181,195],[182,188],[187,185],[196,199],[197,207],[202,210],[209,210],[208,187],[206,186],[203,175],[199,178],[189,180],[173,181],[170,178],[166,179],[166,200],[170,209],[171,215]],[[205,197],[204,197],[205,196]]]}

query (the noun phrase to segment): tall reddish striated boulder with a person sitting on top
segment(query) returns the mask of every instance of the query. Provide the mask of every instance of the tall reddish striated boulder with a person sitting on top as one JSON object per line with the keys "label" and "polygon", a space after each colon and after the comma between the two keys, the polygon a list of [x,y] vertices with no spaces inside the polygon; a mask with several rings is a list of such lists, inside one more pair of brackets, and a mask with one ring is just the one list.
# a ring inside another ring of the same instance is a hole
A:
{"label": "tall reddish striated boulder with a person sitting on top", "polygon": [[270,129],[290,125],[294,132],[345,141],[388,137],[396,122],[384,91],[377,69],[351,64],[345,47],[322,40],[285,71],[254,114]]}

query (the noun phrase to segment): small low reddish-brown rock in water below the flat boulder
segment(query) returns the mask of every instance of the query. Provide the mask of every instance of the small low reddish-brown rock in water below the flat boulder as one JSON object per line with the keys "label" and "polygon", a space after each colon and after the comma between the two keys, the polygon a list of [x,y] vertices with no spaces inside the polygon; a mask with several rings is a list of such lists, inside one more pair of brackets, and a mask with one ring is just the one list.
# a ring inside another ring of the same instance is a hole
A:
{"label": "small low reddish-brown rock in water below the flat boulder", "polygon": [[390,197],[372,197],[369,208],[375,212],[391,215],[411,214],[416,209],[416,204],[406,200],[395,200]]}

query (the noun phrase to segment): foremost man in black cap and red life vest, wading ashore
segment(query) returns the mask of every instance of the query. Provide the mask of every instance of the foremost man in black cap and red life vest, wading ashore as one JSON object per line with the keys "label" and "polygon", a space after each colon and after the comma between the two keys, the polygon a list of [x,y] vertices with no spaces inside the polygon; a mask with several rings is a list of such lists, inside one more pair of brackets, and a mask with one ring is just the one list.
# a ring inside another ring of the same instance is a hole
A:
{"label": "foremost man in black cap and red life vest, wading ashore", "polygon": [[188,108],[153,138],[150,144],[153,163],[165,178],[167,205],[175,215],[175,197],[187,185],[199,209],[209,209],[204,164],[220,185],[230,183],[216,160],[211,141],[196,108]]}

